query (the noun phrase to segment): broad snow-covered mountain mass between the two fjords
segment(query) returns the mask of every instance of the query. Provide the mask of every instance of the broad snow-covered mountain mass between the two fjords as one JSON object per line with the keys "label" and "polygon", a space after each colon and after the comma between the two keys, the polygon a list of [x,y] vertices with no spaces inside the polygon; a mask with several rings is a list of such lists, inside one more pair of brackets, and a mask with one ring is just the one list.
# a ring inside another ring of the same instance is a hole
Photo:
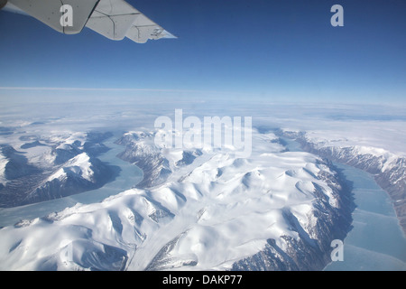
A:
{"label": "broad snow-covered mountain mass between the two fjords", "polygon": [[[157,149],[151,138],[128,133],[117,143],[144,180],[168,170],[164,179],[1,228],[0,268],[310,270],[345,238],[351,200],[331,163],[287,152],[273,134],[254,132],[247,158]],[[79,154],[51,180],[72,171],[86,179],[88,163]]]}

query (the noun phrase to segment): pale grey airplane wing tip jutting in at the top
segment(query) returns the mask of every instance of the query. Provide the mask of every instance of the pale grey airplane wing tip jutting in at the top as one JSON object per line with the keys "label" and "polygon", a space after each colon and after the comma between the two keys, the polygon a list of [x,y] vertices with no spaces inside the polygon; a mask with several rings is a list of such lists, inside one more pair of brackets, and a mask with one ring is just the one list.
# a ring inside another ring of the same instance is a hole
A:
{"label": "pale grey airplane wing tip jutting in at the top", "polygon": [[125,37],[138,43],[176,38],[124,0],[0,0],[2,5],[65,34],[80,33],[86,26],[117,41]]}

